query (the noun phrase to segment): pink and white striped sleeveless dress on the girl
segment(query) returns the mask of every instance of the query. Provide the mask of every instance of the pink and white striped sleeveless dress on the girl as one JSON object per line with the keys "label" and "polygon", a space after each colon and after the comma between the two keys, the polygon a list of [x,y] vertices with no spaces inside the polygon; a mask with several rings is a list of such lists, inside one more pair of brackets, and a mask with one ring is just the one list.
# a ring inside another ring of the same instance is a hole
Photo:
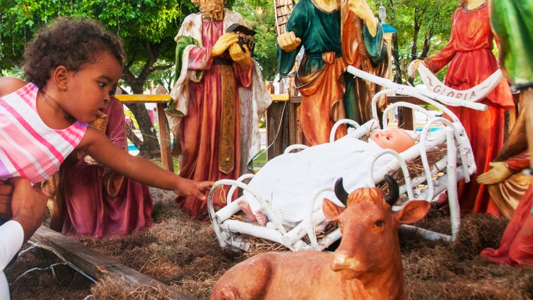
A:
{"label": "pink and white striped sleeveless dress on the girl", "polygon": [[0,98],[0,179],[15,176],[31,183],[44,181],[81,142],[87,124],[77,121],[65,129],[46,126],[37,114],[37,88],[28,83]]}

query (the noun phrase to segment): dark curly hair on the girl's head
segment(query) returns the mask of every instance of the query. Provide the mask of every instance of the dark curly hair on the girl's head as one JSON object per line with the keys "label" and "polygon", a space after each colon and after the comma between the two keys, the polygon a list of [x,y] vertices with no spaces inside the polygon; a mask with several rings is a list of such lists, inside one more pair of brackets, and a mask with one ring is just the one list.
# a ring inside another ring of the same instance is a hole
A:
{"label": "dark curly hair on the girl's head", "polygon": [[42,88],[56,67],[62,65],[77,72],[94,63],[103,51],[108,51],[124,66],[124,49],[116,35],[93,19],[58,17],[49,26],[40,28],[26,44],[22,69],[27,81]]}

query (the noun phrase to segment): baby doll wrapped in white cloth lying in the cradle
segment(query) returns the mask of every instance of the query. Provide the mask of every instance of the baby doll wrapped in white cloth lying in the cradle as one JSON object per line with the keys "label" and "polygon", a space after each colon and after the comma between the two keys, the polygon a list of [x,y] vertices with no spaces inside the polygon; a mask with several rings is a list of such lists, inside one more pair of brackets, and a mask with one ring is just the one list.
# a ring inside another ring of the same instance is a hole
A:
{"label": "baby doll wrapped in white cloth lying in the cradle", "polygon": [[[285,153],[270,160],[252,178],[248,186],[262,197],[276,214],[283,226],[292,228],[305,218],[307,203],[313,200],[318,190],[333,186],[342,177],[348,193],[364,185],[369,164],[375,154],[383,149],[403,152],[415,144],[407,131],[391,128],[374,133],[368,142],[345,137],[335,142],[319,144],[296,153]],[[384,155],[375,162],[374,170],[384,167],[392,160]],[[333,192],[324,192],[320,201],[314,203],[319,210],[322,199],[337,200]],[[259,201],[250,192],[237,200],[239,207],[251,220],[261,225],[269,222],[269,216],[261,210]]]}

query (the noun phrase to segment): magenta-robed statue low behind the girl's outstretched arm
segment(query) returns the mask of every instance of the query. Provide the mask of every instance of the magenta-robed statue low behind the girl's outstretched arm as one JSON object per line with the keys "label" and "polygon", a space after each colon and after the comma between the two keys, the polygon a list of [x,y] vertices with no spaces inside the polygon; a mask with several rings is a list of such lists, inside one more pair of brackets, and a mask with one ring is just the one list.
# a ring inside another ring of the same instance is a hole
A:
{"label": "magenta-robed statue low behind the girl's outstretched arm", "polygon": [[[112,97],[105,114],[105,135],[117,147],[126,149],[122,103]],[[58,197],[65,203],[60,228],[63,234],[111,238],[153,224],[153,201],[146,185],[79,154],[71,154],[60,167]]]}

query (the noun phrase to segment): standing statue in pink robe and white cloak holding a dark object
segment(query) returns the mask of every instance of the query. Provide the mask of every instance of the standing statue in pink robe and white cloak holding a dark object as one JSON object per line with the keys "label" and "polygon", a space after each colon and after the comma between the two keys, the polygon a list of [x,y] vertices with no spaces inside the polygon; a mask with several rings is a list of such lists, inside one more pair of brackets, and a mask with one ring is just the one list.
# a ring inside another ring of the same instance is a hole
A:
{"label": "standing statue in pink robe and white cloak holding a dark object", "polygon": [[[246,25],[225,0],[193,0],[201,12],[189,15],[176,35],[176,74],[167,116],[179,153],[180,176],[198,181],[236,179],[260,147],[259,120],[272,99],[259,65],[237,44],[232,24]],[[226,192],[216,193],[224,206]],[[176,198],[193,217],[207,215],[207,203]]]}

